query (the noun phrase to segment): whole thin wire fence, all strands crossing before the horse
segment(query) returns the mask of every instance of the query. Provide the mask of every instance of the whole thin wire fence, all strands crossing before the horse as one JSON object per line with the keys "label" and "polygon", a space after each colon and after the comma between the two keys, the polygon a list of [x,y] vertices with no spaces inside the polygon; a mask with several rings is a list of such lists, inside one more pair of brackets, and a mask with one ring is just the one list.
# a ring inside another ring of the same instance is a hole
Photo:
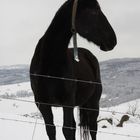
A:
{"label": "whole thin wire fence, all strands crossing before the horse", "polygon": [[[55,76],[49,76],[49,75],[41,75],[41,74],[30,74],[31,76],[36,76],[36,77],[42,77],[42,78],[49,78],[49,79],[57,79],[57,80],[65,80],[65,81],[72,81],[72,82],[80,82],[80,83],[86,83],[86,84],[97,84],[97,85],[101,85],[102,83],[100,82],[94,82],[94,81],[86,81],[86,80],[79,80],[79,79],[71,79],[71,78],[64,78],[64,77],[55,77]],[[25,103],[33,103],[33,104],[37,104],[37,105],[47,105],[47,106],[55,106],[55,107],[65,107],[65,108],[74,108],[74,106],[67,106],[67,105],[58,105],[58,104],[50,104],[50,103],[43,103],[43,102],[35,102],[35,101],[29,101],[29,100],[22,100],[22,99],[17,99],[17,98],[1,98],[1,99],[7,99],[7,100],[14,100],[14,101],[19,101],[19,102],[25,102]],[[103,110],[103,109],[94,109],[94,108],[85,108],[85,107],[80,107],[80,109],[83,110],[87,110],[87,111],[97,111],[97,112],[106,112],[106,113],[116,113],[116,114],[121,114],[121,115],[135,115],[135,116],[139,116],[140,114],[131,114],[131,113],[123,113],[123,112],[117,112],[117,111],[112,111],[112,110]],[[34,124],[34,129],[33,129],[33,135],[32,135],[32,140],[34,139],[34,134],[35,134],[35,130],[36,130],[36,126],[38,124],[40,125],[47,125],[50,127],[54,127],[54,125],[51,124],[44,124],[44,123],[39,123],[37,122],[38,118],[36,118],[35,122],[33,121],[25,121],[25,120],[16,120],[16,119],[8,119],[8,118],[2,118],[0,117],[0,120],[4,120],[4,121],[14,121],[14,122],[21,122],[21,123],[30,123],[30,124]],[[67,127],[67,126],[61,126],[61,125],[55,125],[56,127],[63,127],[63,128],[67,128],[67,129],[80,129],[78,128],[74,128],[74,127]],[[117,135],[117,136],[125,136],[125,137],[130,137],[130,138],[137,138],[140,139],[140,136],[134,136],[134,135],[125,135],[125,134],[119,134],[119,133],[111,133],[111,132],[104,132],[104,131],[95,131],[95,130],[90,130],[91,132],[99,132],[99,133],[105,133],[105,134],[109,134],[109,135]]]}

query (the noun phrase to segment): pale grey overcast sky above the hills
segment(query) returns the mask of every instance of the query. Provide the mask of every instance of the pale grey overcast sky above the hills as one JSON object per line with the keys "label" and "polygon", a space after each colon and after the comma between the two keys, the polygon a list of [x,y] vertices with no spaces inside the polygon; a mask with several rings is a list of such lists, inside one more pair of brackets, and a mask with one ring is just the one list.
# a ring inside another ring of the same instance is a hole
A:
{"label": "pale grey overcast sky above the hills", "polygon": [[[65,0],[0,0],[0,65],[30,64],[39,38]],[[118,38],[116,48],[103,52],[81,37],[99,61],[140,57],[140,0],[99,0]]]}

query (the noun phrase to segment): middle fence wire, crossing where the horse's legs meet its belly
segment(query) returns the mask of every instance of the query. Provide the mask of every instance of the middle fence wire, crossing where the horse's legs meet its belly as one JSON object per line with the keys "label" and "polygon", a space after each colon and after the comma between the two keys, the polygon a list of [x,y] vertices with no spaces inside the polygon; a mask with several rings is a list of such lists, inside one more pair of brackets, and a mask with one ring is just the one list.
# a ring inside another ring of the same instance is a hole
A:
{"label": "middle fence wire, crossing where the horse's legs meet its belly", "polygon": [[[50,103],[43,103],[43,102],[35,102],[35,101],[29,101],[29,100],[23,100],[23,99],[17,99],[17,98],[0,98],[5,99],[5,100],[13,100],[13,101],[19,101],[19,102],[25,102],[25,103],[32,103],[32,104],[42,104],[42,105],[47,105],[47,106],[53,106],[53,107],[65,107],[65,108],[74,108],[74,106],[69,106],[69,105],[59,105],[59,104],[50,104]],[[78,106],[76,106],[78,107]],[[96,112],[106,112],[106,113],[111,113],[111,114],[120,114],[120,115],[130,115],[130,116],[140,116],[140,114],[131,114],[131,113],[124,113],[124,112],[119,112],[119,111],[114,111],[114,110],[103,110],[103,109],[94,109],[94,108],[86,108],[86,107],[79,107],[81,110],[87,110],[87,111],[96,111]]]}

